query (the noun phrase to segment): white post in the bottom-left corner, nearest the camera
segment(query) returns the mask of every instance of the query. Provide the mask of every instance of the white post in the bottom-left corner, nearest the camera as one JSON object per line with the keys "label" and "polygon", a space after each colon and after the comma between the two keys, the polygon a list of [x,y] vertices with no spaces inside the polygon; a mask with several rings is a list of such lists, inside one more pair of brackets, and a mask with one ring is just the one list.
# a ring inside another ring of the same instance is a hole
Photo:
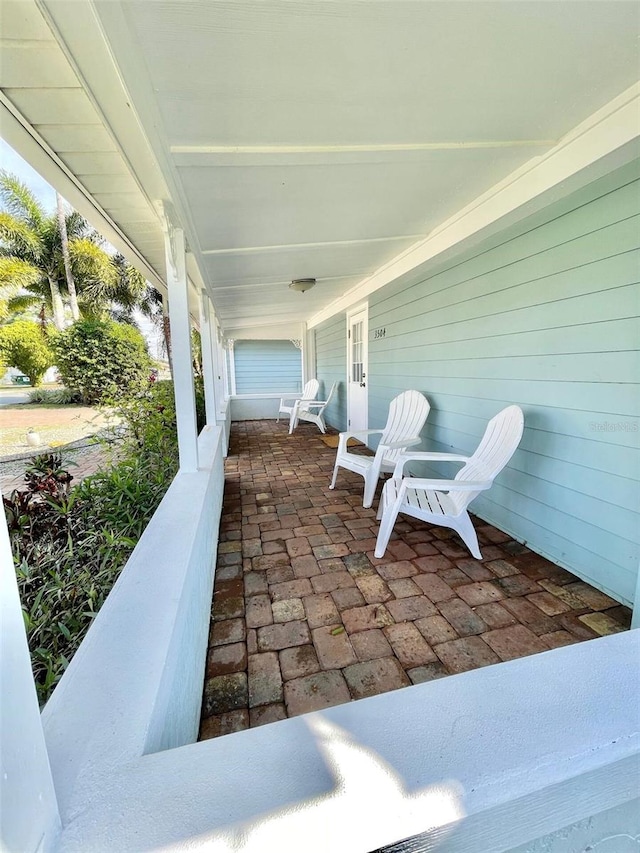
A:
{"label": "white post in the bottom-left corner, nearest the camera", "polygon": [[0,518],[0,849],[43,853],[60,832],[9,535]]}

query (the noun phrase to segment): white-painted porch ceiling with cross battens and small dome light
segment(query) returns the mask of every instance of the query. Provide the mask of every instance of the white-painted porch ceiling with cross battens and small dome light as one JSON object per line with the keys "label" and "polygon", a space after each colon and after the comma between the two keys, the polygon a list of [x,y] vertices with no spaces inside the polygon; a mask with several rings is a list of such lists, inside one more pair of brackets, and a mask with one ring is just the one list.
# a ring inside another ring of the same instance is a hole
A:
{"label": "white-painted porch ceiling with cross battens and small dome light", "polygon": [[639,10],[3,0],[0,87],[159,278],[172,203],[232,333],[308,320],[552,149],[637,81]]}

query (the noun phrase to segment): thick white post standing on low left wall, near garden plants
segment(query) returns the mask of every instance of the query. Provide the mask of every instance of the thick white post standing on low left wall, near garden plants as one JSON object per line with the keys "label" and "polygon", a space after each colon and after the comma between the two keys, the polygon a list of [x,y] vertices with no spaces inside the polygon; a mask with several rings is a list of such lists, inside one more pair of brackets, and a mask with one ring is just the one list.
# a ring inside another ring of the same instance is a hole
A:
{"label": "thick white post standing on low left wall, near garden plants", "polygon": [[172,228],[167,223],[164,245],[180,471],[189,473],[198,470],[198,427],[193,384],[184,231],[181,228]]}

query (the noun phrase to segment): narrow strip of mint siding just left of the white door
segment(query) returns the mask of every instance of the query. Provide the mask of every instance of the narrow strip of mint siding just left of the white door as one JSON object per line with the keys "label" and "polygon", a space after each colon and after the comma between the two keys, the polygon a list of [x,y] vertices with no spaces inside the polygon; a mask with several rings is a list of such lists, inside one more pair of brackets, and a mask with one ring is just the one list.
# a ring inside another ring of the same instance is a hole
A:
{"label": "narrow strip of mint siding just left of the white door", "polygon": [[333,382],[339,382],[335,396],[325,411],[325,420],[337,430],[347,428],[347,319],[332,317],[315,329],[316,376],[320,380],[319,399],[326,399]]}

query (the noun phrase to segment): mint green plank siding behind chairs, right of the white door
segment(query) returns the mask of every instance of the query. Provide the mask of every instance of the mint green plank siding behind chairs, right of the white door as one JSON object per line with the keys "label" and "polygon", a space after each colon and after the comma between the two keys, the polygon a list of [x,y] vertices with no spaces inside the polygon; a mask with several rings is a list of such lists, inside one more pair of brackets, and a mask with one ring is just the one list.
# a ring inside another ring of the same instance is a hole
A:
{"label": "mint green plank siding behind chairs, right of the white door", "polygon": [[472,509],[626,603],[640,556],[638,177],[601,179],[369,302],[370,424],[416,388],[432,406],[425,447],[470,452],[520,405],[521,446]]}

